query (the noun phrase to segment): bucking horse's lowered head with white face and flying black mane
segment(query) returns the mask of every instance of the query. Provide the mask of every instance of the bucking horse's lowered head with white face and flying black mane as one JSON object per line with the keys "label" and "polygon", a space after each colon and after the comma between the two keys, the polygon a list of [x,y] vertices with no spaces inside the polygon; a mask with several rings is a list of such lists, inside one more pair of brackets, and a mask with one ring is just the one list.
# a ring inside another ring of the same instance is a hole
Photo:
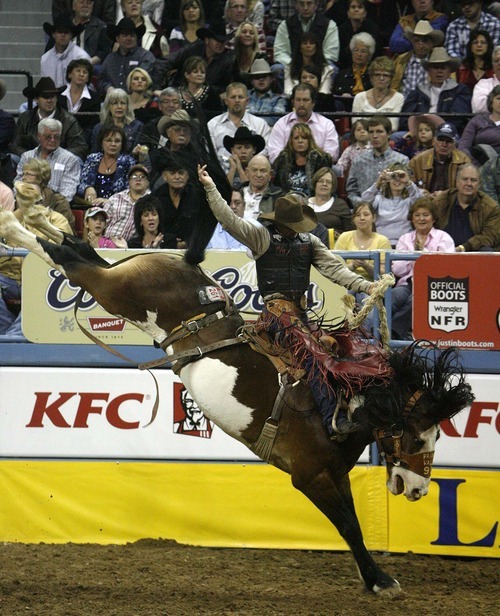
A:
{"label": "bucking horse's lowered head with white face and flying black mane", "polygon": [[385,396],[375,397],[370,420],[387,464],[387,487],[415,501],[429,489],[440,422],[470,406],[474,396],[456,349],[422,353],[414,343],[390,361],[394,380]]}

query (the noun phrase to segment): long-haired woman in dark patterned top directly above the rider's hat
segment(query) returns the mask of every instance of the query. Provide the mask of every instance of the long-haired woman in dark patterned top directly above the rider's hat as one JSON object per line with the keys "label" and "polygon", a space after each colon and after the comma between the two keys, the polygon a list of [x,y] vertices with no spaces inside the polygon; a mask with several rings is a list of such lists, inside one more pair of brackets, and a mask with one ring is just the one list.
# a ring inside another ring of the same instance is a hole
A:
{"label": "long-haired woman in dark patterned top directly above the rider's hat", "polygon": [[307,124],[299,122],[292,127],[285,149],[274,161],[274,184],[286,192],[309,196],[313,175],[321,167],[331,167],[332,157],[314,140]]}

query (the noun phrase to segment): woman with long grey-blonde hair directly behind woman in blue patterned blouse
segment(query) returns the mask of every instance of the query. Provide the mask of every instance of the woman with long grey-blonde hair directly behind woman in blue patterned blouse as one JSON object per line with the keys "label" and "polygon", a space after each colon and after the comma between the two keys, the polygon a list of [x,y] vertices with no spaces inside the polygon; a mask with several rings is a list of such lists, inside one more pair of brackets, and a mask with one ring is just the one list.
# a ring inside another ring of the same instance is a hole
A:
{"label": "woman with long grey-blonde hair directly behind woman in blue patterned blouse", "polygon": [[103,124],[113,124],[125,132],[127,137],[127,151],[131,152],[137,143],[137,135],[142,127],[142,122],[134,117],[130,99],[125,90],[110,88],[100,113],[101,121],[94,126],[92,131],[92,152],[97,152],[97,135]]}

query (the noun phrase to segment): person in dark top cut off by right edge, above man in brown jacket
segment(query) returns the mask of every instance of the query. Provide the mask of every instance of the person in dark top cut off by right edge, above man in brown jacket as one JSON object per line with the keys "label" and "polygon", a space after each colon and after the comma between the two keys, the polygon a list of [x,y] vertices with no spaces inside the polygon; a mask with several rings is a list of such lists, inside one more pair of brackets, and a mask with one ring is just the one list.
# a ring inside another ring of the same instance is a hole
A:
{"label": "person in dark top cut off by right edge, above man in brown jacket", "polygon": [[484,163],[488,154],[500,154],[500,85],[488,94],[487,113],[480,113],[469,120],[458,143],[458,148],[469,158]]}

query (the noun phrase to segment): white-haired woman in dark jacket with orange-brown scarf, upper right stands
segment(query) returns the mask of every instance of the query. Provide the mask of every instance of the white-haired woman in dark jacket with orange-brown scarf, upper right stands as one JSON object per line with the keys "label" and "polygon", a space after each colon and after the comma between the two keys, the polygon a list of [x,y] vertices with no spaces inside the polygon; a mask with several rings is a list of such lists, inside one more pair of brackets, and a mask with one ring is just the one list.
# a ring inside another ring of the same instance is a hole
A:
{"label": "white-haired woman in dark jacket with orange-brown scarf, upper right stands", "polygon": [[360,32],[352,37],[349,48],[351,66],[340,71],[333,83],[333,94],[343,97],[341,100],[336,99],[339,111],[351,111],[353,97],[372,87],[368,65],[375,53],[375,39],[366,32]]}

